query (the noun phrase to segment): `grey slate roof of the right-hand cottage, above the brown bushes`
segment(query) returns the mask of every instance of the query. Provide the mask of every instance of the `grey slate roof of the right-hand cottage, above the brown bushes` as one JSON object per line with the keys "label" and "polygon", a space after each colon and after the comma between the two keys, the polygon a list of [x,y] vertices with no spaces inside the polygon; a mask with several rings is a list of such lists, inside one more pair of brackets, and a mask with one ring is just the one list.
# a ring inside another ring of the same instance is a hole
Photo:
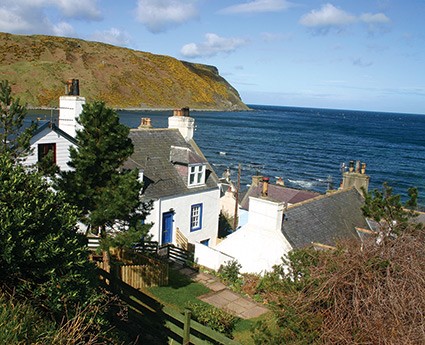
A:
{"label": "grey slate roof of the right-hand cottage, above the brown bushes", "polygon": [[293,205],[285,211],[282,233],[294,248],[312,243],[335,245],[368,228],[361,210],[364,199],[355,189],[341,190]]}

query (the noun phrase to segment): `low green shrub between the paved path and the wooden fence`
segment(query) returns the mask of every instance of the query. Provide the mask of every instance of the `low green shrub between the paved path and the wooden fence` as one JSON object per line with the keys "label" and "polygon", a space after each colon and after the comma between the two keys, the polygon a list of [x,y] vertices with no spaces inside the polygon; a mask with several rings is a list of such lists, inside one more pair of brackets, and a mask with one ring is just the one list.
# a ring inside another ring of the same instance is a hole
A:
{"label": "low green shrub between the paved path and the wooden fence", "polygon": [[195,321],[223,333],[230,338],[233,337],[232,332],[238,321],[236,316],[206,304],[189,302],[187,307],[192,311],[192,318]]}

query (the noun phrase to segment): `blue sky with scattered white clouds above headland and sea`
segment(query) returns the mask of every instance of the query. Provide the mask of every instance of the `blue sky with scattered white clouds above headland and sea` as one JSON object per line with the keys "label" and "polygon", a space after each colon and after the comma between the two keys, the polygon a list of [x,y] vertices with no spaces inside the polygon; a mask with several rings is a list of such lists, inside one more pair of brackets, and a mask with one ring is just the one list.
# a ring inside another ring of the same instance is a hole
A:
{"label": "blue sky with scattered white clouds above headland and sea", "polygon": [[425,114],[425,0],[0,0],[0,31],[213,65],[246,104]]}

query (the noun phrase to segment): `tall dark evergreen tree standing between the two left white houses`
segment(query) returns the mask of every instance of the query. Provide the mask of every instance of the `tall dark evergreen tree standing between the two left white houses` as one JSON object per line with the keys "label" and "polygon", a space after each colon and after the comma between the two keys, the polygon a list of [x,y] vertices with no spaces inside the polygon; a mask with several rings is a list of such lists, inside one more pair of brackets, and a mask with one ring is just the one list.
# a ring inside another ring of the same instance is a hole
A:
{"label": "tall dark evergreen tree standing between the two left white houses", "polygon": [[81,211],[81,220],[92,231],[122,225],[121,229],[141,227],[148,207],[141,203],[142,183],[138,171],[121,169],[133,153],[129,128],[118,114],[103,102],[83,106],[78,122],[78,148],[70,149],[72,171],[62,172],[59,189]]}

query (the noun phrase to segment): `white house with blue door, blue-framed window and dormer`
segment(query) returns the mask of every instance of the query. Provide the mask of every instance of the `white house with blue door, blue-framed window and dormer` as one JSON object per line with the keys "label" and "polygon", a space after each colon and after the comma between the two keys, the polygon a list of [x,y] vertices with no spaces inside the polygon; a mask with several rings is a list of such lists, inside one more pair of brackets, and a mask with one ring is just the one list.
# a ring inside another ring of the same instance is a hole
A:
{"label": "white house with blue door, blue-framed window and dormer", "polygon": [[188,109],[175,110],[168,128],[152,128],[143,119],[130,131],[134,153],[124,168],[143,171],[143,198],[153,201],[147,223],[160,244],[215,246],[219,218],[219,180],[193,140]]}

